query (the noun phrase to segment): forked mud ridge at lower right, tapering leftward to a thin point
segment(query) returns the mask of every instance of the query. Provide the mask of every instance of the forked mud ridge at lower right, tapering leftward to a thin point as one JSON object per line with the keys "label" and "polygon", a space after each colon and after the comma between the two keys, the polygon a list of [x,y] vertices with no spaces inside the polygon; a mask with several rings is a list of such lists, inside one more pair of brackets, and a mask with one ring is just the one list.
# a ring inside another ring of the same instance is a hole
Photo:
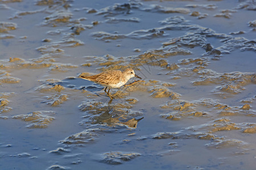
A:
{"label": "forked mud ridge at lower right, tapering leftward to a thin point", "polygon": [[242,154],[248,151],[248,143],[237,140],[228,139],[226,137],[218,137],[214,134],[216,131],[229,131],[229,130],[241,130],[243,133],[255,133],[255,124],[235,124],[230,122],[227,118],[220,118],[207,124],[192,126],[184,128],[184,130],[175,132],[161,132],[152,137],[143,137],[144,139],[200,139],[207,140],[209,143],[205,144],[208,148],[225,148],[225,147],[237,147],[237,154]]}

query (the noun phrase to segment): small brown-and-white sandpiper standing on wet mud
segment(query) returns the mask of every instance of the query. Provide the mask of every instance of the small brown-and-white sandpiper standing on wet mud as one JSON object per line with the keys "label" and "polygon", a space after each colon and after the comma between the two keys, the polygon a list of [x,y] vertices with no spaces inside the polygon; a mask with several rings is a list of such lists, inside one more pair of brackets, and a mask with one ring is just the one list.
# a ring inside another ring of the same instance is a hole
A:
{"label": "small brown-and-white sandpiper standing on wet mud", "polygon": [[[118,88],[123,86],[130,78],[137,77],[141,79],[138,75],[134,73],[133,69],[126,69],[125,71],[120,70],[110,70],[105,71],[100,74],[92,76],[81,76],[82,79],[90,80],[92,82],[101,84],[105,86],[105,92],[110,97],[110,100],[113,100],[114,97],[109,94],[110,88]],[[109,88],[108,92],[106,89]]]}

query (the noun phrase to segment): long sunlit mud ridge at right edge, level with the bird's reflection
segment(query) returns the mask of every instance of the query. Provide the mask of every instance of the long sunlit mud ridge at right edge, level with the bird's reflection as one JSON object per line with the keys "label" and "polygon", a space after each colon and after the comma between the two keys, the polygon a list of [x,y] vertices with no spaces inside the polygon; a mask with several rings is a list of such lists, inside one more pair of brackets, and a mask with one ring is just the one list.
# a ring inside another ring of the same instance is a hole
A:
{"label": "long sunlit mud ridge at right edge, level with the bird's reflection", "polygon": [[162,114],[162,117],[171,120],[180,120],[185,117],[256,116],[256,111],[251,109],[249,104],[243,104],[242,107],[230,107],[212,99],[194,100],[193,102],[171,100],[160,105],[160,108],[173,110]]}

